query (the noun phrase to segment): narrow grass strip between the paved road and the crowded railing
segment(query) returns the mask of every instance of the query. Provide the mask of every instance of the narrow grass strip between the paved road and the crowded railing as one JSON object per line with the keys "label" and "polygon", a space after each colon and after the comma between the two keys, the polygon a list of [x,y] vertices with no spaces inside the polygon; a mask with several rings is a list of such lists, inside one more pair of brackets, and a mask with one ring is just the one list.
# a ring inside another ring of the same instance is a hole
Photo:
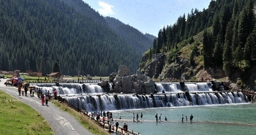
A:
{"label": "narrow grass strip between the paved road and the crowded railing", "polygon": [[90,120],[87,116],[82,115],[76,110],[68,107],[66,104],[61,104],[57,100],[52,100],[52,102],[55,104],[55,106],[60,107],[60,109],[63,111],[67,111],[70,113],[70,115],[73,115],[84,126],[84,128],[88,129],[88,131],[92,132],[93,134],[109,134],[108,131],[102,129],[102,127]]}

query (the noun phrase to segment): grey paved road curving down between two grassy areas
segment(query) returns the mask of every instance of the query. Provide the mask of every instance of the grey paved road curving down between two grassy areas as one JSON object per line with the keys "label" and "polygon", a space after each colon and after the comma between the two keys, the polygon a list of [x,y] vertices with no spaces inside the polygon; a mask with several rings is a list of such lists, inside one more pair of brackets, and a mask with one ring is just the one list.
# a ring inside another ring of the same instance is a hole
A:
{"label": "grey paved road curving down between two grassy areas", "polygon": [[5,79],[1,79],[0,90],[3,90],[21,102],[28,104],[29,106],[33,107],[33,109],[41,113],[45,120],[51,125],[55,134],[92,134],[91,132],[84,129],[83,125],[77,122],[74,116],[65,111],[62,111],[58,107],[55,107],[55,105],[51,102],[48,102],[49,106],[42,106],[41,100],[37,97],[19,96],[16,87],[5,86],[4,82]]}

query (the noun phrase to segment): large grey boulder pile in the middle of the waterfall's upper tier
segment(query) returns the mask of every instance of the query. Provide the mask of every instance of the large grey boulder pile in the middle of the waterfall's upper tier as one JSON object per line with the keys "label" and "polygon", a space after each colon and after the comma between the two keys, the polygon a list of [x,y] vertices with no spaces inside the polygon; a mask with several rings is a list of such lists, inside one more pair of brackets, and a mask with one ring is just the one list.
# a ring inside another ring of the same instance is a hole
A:
{"label": "large grey boulder pile in the middle of the waterfall's upper tier", "polygon": [[[113,76],[111,76],[113,77]],[[154,93],[155,82],[137,70],[136,74],[129,75],[127,67],[120,65],[118,74],[113,80],[113,89],[116,93]]]}

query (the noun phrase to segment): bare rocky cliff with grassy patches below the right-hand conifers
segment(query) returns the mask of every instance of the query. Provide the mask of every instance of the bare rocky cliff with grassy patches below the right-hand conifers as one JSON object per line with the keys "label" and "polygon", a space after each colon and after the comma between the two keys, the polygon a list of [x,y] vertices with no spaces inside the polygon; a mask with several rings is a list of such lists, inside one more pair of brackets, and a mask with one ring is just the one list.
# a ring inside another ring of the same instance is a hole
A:
{"label": "bare rocky cliff with grassy patches below the right-hand conifers", "polygon": [[[191,63],[190,56],[193,47],[198,44],[198,56]],[[204,68],[200,48],[202,44],[183,42],[178,45],[176,52],[153,54],[149,58],[149,51],[143,54],[140,70],[147,76],[159,81],[206,81],[225,77],[220,68]]]}

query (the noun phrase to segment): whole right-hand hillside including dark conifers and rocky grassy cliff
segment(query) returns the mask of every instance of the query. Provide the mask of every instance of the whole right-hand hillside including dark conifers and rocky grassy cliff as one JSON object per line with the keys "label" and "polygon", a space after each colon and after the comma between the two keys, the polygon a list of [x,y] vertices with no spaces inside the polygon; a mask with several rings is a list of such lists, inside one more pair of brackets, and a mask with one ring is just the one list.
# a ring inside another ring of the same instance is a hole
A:
{"label": "whole right-hand hillside including dark conifers and rocky grassy cliff", "polygon": [[165,62],[154,77],[192,79],[204,67],[245,78],[255,68],[255,37],[255,0],[211,1],[207,10],[191,10],[160,29],[140,68],[148,74],[152,56],[163,53]]}

